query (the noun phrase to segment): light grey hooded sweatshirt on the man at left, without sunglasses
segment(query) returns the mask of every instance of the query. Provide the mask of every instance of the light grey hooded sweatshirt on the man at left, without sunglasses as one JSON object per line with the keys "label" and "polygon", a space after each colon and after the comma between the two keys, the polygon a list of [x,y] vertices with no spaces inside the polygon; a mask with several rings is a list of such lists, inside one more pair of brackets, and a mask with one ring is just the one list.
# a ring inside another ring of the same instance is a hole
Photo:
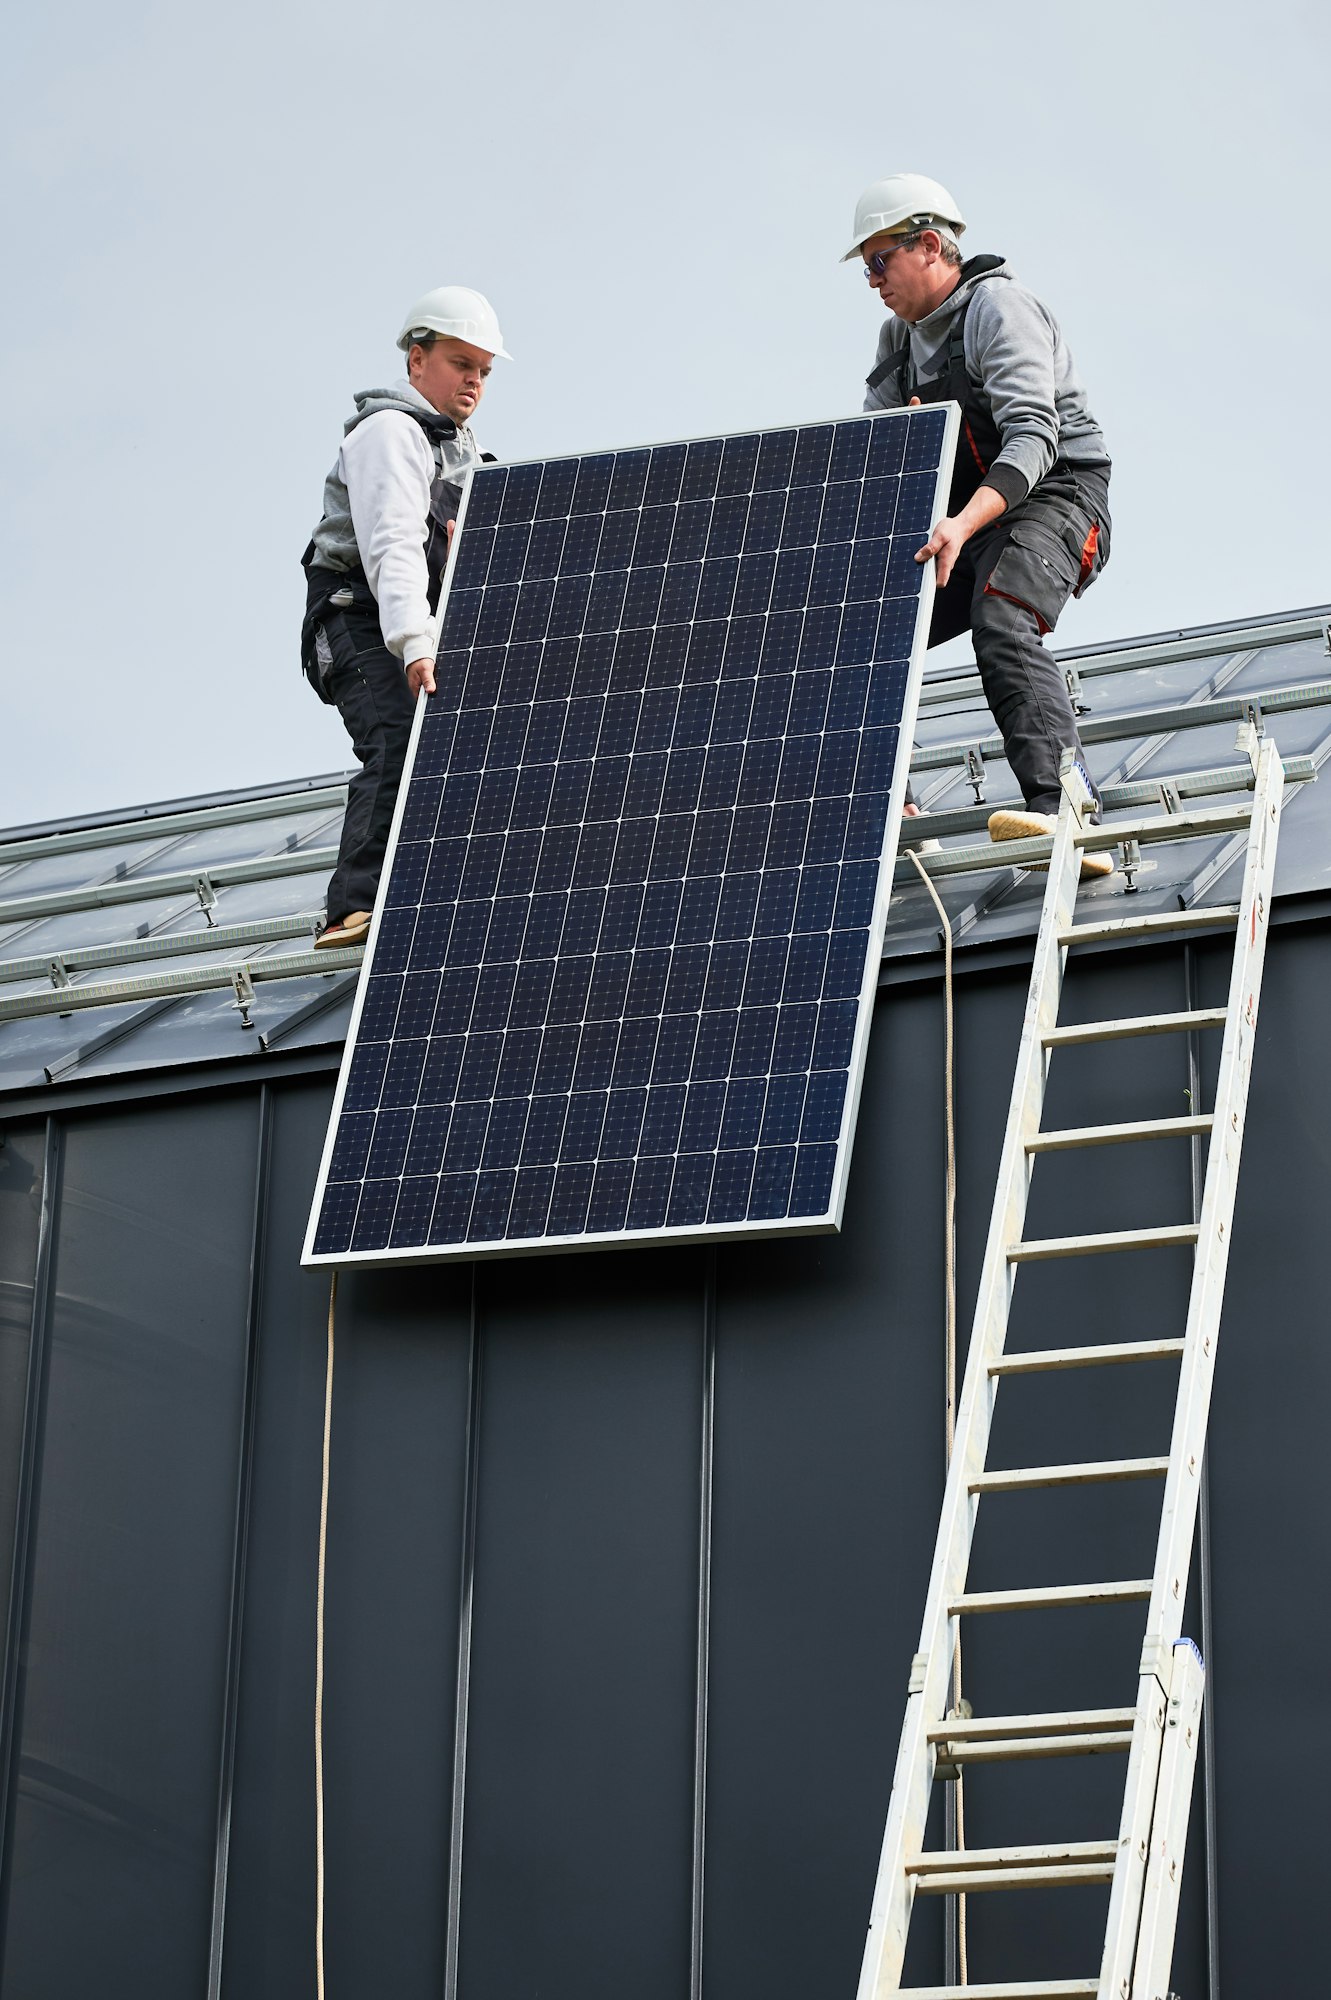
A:
{"label": "light grey hooded sweatshirt on the man at left, without sunglasses", "polygon": [[[434,658],[426,568],[430,488],[438,476],[436,444],[410,414],[440,412],[410,382],[368,388],[346,420],[338,464],[324,484],[324,516],[314,530],[314,562],[324,570],[360,564],[380,606],[384,644],[400,660]],[[460,480],[480,462],[470,426],[440,438],[442,472]]]}

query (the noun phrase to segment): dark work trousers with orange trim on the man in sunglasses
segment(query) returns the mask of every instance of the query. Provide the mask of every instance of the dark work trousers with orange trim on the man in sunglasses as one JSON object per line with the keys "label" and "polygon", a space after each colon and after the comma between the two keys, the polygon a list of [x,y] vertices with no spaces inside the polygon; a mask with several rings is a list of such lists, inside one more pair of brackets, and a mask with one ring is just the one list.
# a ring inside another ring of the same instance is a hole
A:
{"label": "dark work trousers with orange trim on the man in sunglasses", "polygon": [[1109,482],[1051,472],[971,536],[933,600],[929,646],[969,628],[985,700],[1033,812],[1059,810],[1061,754],[1081,756],[1067,682],[1041,640],[1107,556]]}

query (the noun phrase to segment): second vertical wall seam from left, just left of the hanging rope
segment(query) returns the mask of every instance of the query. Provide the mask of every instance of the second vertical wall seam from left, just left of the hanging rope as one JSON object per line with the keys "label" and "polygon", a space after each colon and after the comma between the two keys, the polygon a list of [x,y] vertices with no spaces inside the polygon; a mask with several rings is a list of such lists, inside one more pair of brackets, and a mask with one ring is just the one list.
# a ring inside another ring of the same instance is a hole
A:
{"label": "second vertical wall seam from left, just left of the hanging rope", "polygon": [[236,1784],[236,1734],[240,1724],[240,1658],[244,1646],[246,1572],[250,1560],[250,1494],[254,1488],[254,1432],[258,1418],[258,1356],[268,1252],[268,1180],[272,1158],[272,1086],[258,1094],[258,1156],[250,1220],[250,1284],[246,1296],[246,1380],[240,1408],[236,1464],[236,1518],[232,1524],[232,1592],[226,1622],[226,1682],[222,1694],[222,1752],[218,1762],[218,1822],[212,1860],[212,1920],[208,1932],[208,2000],[220,2000],[226,1944],[226,1884],[232,1854],[232,1796]]}

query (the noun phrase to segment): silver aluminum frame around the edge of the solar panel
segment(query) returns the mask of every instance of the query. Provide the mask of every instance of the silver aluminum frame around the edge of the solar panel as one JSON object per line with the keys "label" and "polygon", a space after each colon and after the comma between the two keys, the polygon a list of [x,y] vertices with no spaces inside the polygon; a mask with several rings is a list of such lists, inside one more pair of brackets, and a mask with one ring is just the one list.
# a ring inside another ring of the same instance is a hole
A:
{"label": "silver aluminum frame around the edge of the solar panel", "polygon": [[[943,446],[941,446],[941,452],[939,452],[939,464],[937,464],[937,474],[935,474],[935,490],[933,490],[933,508],[931,508],[931,516],[929,516],[931,520],[939,520],[945,514],[945,510],[947,510],[947,494],[949,494],[949,486],[951,486],[951,468],[953,468],[953,458],[955,458],[955,448],[957,448],[957,438],[959,438],[959,428],[961,428],[961,408],[955,402],[943,402],[943,404],[933,404],[931,410],[935,414],[937,414],[937,410],[941,410],[945,414]],[[873,424],[879,424],[879,422],[881,424],[891,424],[891,422],[909,420],[905,410],[855,412],[855,414],[863,416],[863,420],[873,422]],[[849,414],[847,416],[839,416],[839,418],[821,418],[821,420],[815,420],[815,422],[799,422],[799,424],[769,426],[769,428],[771,430],[785,430],[785,428],[789,428],[789,430],[813,430],[813,428],[819,428],[821,424],[845,424],[845,422],[851,422]],[[731,434],[721,434],[721,436],[727,438]],[[733,436],[751,436],[751,432],[735,432]],[[622,452],[630,452],[630,450],[658,450],[662,444],[705,444],[705,442],[717,442],[717,434],[707,432],[707,434],[699,434],[697,438],[658,440],[652,446],[620,446],[620,448],[616,448],[616,456],[620,456]],[[600,454],[566,452],[566,454],[560,454],[560,456],[564,456],[564,458],[586,458],[586,456],[600,456]],[[554,462],[558,462],[558,460],[548,460],[548,458],[512,460],[508,464],[508,470],[516,470],[518,466],[524,466],[524,464],[542,464],[544,466],[544,464],[554,464]],[[440,608],[438,608],[438,614],[436,614],[436,630],[440,634],[444,632],[444,620],[446,620],[446,612],[448,612],[448,594],[450,594],[450,586],[452,586],[452,580],[454,580],[454,572],[456,572],[456,566],[458,566],[458,558],[460,558],[460,550],[462,550],[462,542],[464,542],[464,534],[466,534],[466,516],[468,516],[468,502],[472,498],[472,484],[474,484],[474,470],[468,470],[466,482],[464,482],[464,492],[462,492],[462,502],[460,502],[460,508],[458,508],[458,528],[456,528],[454,538],[452,538],[452,548],[450,548],[450,554],[448,554],[448,566],[444,570],[444,580],[442,580],[442,588],[440,588]],[[360,978],[360,986],[358,986],[358,994],[356,994],[356,1006],[352,1010],[352,1020],[348,1024],[348,1036],[346,1036],[346,1048],[344,1048],[344,1058],[342,1058],[342,1070],[338,1074],[338,1088],[336,1088],[332,1112],[330,1112],[330,1118],[328,1118],[328,1134],[326,1134],[326,1140],[324,1140],[324,1152],[322,1152],[322,1158],[320,1158],[320,1170],[318,1170],[318,1180],[316,1180],[316,1188],[314,1188],[314,1202],[310,1206],[310,1222],[308,1222],[308,1228],[306,1228],[306,1242],[304,1242],[304,1250],[302,1250],[302,1258],[300,1258],[302,1268],[316,1268],[316,1266],[342,1268],[342,1266],[350,1266],[350,1264],[376,1264],[376,1266],[432,1264],[432,1262],[440,1262],[440,1260],[460,1260],[460,1258],[464,1258],[464,1260],[476,1260],[476,1258],[504,1258],[504,1256],[550,1256],[550,1254],[560,1254],[560,1252],[566,1252],[566,1250],[618,1250],[618,1248],[630,1248],[630,1246],[644,1246],[646,1248],[646,1246],[654,1246],[654,1244],[701,1244],[701,1242],[715,1242],[717,1238],[737,1238],[737,1240],[753,1242],[753,1240],[771,1238],[771,1236],[833,1236],[833,1234],[839,1232],[839,1228],[841,1228],[841,1214],[843,1214],[843,1208],[845,1208],[845,1186],[847,1186],[847,1178],[849,1178],[849,1156],[851,1156],[851,1144],[853,1144],[853,1136],[855,1136],[855,1118],[857,1118],[857,1112],[859,1112],[859,1092],[861,1092],[861,1086],[863,1086],[863,1066],[865,1066],[865,1056],[867,1056],[869,1024],[871,1024],[871,1016],[873,1016],[873,998],[875,998],[875,992],[877,992],[877,970],[879,970],[879,960],[881,960],[881,950],[883,950],[883,934],[885,934],[885,926],[887,926],[887,904],[891,900],[891,878],[893,878],[893,864],[895,864],[895,856],[897,856],[901,812],[903,812],[903,806],[905,806],[905,790],[907,790],[907,784],[909,784],[909,764],[911,764],[911,750],[913,750],[913,738],[915,738],[915,716],[917,716],[917,708],[919,708],[919,690],[921,690],[921,680],[923,680],[923,658],[925,658],[925,648],[927,648],[927,638],[929,638],[929,616],[931,616],[931,610],[933,610],[933,592],[935,592],[935,588],[937,586],[935,586],[933,564],[925,564],[923,566],[923,576],[921,576],[921,586],[919,586],[919,596],[915,600],[915,632],[913,632],[911,650],[909,650],[909,670],[907,670],[905,698],[903,698],[903,704],[901,704],[901,722],[899,722],[899,734],[897,734],[897,754],[895,754],[895,762],[893,762],[891,790],[889,790],[889,804],[887,804],[887,822],[885,822],[885,828],[883,828],[883,846],[881,846],[881,854],[879,854],[877,896],[875,896],[875,904],[873,904],[873,920],[871,920],[871,926],[869,926],[869,942],[867,942],[867,948],[865,948],[863,982],[861,982],[861,988],[859,988],[859,1004],[857,1004],[857,1014],[855,1014],[855,1038],[853,1038],[853,1048],[851,1048],[851,1058],[849,1058],[849,1068],[847,1068],[845,1102],[843,1102],[843,1108],[841,1108],[841,1128],[839,1128],[839,1134],[837,1134],[835,1174],[833,1174],[833,1184],[831,1184],[831,1198],[829,1198],[829,1204],[827,1204],[825,1212],[821,1216],[801,1216],[801,1218],[789,1218],[789,1216],[785,1216],[785,1218],[773,1218],[773,1220],[749,1220],[749,1218],[743,1218],[743,1220],[737,1220],[737,1222],[699,1222],[699,1224],[673,1226],[673,1228],[671,1226],[636,1228],[636,1230],[624,1228],[624,1230],[616,1230],[616,1232],[598,1230],[598,1232],[568,1234],[568,1236],[506,1238],[502,1242],[500,1240],[490,1240],[490,1242],[450,1242],[450,1244],[418,1244],[418,1246],[410,1246],[410,1248],[324,1250],[324,1252],[318,1252],[314,1248],[314,1238],[316,1238],[316,1230],[318,1230],[322,1208],[324,1208],[324,1190],[328,1186],[328,1174],[330,1174],[334,1146],[336,1146],[336,1138],[338,1138],[338,1126],[340,1126],[340,1120],[342,1120],[342,1106],[344,1106],[346,1088],[348,1088],[352,1054],[354,1054],[356,1044],[358,1044],[360,1018],[362,1018],[362,1010],[364,1010],[364,1004],[366,1004],[366,994],[370,990],[370,974],[374,970],[376,942],[378,942],[380,926],[382,926],[384,912],[386,912],[384,888],[390,882],[392,866],[394,866],[394,856],[398,852],[398,840],[400,840],[402,820],[404,820],[404,814],[406,814],[408,794],[410,794],[410,786],[412,786],[412,772],[414,772],[414,766],[416,766],[416,754],[418,754],[418,746],[420,746],[420,738],[422,738],[422,728],[424,728],[424,720],[426,720],[426,710],[428,710],[428,702],[426,700],[418,700],[416,702],[416,716],[414,716],[414,722],[412,722],[412,736],[410,736],[410,744],[408,744],[406,764],[404,764],[404,770],[402,770],[402,782],[400,782],[400,788],[398,788],[398,802],[396,802],[394,820],[392,820],[392,828],[390,828],[390,836],[388,836],[388,850],[386,850],[386,856],[384,856],[384,874],[380,878],[380,896],[376,898],[374,918],[372,918],[370,934],[368,934],[368,940],[366,940],[366,956],[364,956],[364,966],[362,966],[362,978]]]}

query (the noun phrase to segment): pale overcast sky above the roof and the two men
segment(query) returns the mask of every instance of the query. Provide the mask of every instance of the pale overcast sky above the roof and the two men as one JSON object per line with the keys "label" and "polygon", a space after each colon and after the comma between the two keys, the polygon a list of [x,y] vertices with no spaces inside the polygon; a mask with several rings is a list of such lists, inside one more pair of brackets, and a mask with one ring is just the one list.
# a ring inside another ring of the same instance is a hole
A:
{"label": "pale overcast sky above the roof and the two men", "polygon": [[1113,562],[1059,642],[1331,598],[1325,4],[228,0],[6,28],[0,822],[348,762],[298,670],[352,390],[500,312],[502,458],[859,408],[859,188],[1053,308]]}

